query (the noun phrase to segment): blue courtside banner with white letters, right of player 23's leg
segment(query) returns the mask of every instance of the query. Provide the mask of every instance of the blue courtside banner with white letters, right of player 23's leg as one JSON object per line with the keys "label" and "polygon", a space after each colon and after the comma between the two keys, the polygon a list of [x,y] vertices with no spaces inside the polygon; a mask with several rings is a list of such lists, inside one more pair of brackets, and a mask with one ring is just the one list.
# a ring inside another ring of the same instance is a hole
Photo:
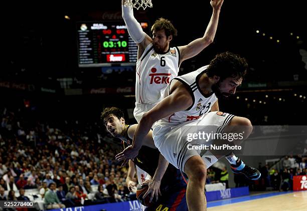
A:
{"label": "blue courtside banner with white letters, right of player 23's leg", "polygon": [[206,192],[207,201],[220,200],[225,198],[234,198],[249,195],[248,187],[227,188],[224,190]]}

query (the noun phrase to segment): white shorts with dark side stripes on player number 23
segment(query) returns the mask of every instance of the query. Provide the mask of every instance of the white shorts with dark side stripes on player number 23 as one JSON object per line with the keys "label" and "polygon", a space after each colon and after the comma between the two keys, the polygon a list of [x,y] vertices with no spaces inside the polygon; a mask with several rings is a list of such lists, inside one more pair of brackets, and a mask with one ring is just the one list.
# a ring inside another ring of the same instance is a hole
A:
{"label": "white shorts with dark side stripes on player number 23", "polygon": [[199,132],[207,134],[222,133],[234,116],[229,113],[214,111],[204,114],[199,119],[186,121],[175,126],[159,120],[154,124],[152,136],[161,154],[181,171],[184,171],[185,163],[190,157],[200,154],[208,168],[217,161],[217,158],[215,156],[208,156],[207,154],[211,154],[208,150],[191,149],[191,146],[210,145],[214,138],[188,137],[193,133],[198,134]]}

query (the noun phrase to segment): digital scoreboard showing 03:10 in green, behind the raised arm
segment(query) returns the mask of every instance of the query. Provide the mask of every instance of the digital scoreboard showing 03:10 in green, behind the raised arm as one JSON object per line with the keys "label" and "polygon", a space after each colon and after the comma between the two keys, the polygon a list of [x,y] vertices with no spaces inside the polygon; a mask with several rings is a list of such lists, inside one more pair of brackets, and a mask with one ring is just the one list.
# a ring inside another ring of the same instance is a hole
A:
{"label": "digital scoreboard showing 03:10 in green, behind the raised arm", "polygon": [[[148,22],[140,22],[148,34]],[[79,67],[135,65],[137,45],[123,21],[78,22]]]}

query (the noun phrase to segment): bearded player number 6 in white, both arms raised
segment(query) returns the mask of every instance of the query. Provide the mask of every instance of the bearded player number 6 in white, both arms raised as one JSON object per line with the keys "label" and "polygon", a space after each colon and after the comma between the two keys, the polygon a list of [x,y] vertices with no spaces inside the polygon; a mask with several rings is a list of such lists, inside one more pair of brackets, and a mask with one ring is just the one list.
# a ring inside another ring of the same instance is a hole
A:
{"label": "bearded player number 6 in white, both arms raised", "polygon": [[[150,110],[163,99],[163,93],[169,82],[178,75],[182,61],[201,52],[213,42],[223,0],[211,0],[213,13],[203,37],[187,45],[170,47],[177,35],[177,29],[171,21],[160,18],[151,27],[152,38],[143,32],[141,25],[133,15],[133,9],[124,6],[122,0],[122,18],[129,35],[137,44],[135,108],[133,115],[139,123],[144,112]],[[146,172],[142,171],[146,174]],[[158,185],[149,183],[149,190],[157,192]]]}

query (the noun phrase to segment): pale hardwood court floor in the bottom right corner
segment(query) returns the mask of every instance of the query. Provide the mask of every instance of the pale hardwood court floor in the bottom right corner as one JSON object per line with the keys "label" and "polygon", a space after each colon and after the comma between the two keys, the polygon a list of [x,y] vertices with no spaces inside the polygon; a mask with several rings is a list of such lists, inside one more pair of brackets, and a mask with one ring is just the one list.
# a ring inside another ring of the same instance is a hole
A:
{"label": "pale hardwood court floor in the bottom right corner", "polygon": [[209,207],[208,211],[306,211],[307,191],[247,200],[238,203]]}

